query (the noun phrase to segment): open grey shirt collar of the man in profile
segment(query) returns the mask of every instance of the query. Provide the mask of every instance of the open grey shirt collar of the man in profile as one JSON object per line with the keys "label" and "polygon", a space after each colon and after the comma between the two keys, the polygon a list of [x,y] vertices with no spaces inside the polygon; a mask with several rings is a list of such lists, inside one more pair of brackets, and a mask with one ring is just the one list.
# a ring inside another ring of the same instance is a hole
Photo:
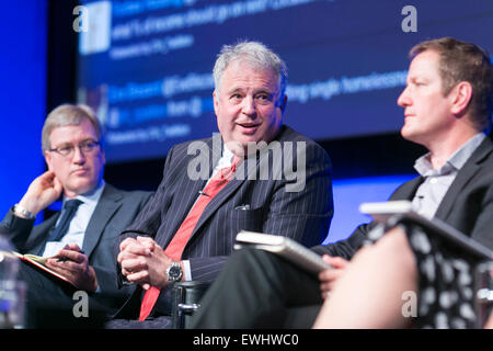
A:
{"label": "open grey shirt collar of the man in profile", "polygon": [[423,155],[414,162],[414,169],[422,176],[442,176],[451,171],[458,171],[467,162],[472,152],[484,140],[486,135],[484,133],[478,133],[461,147],[459,147],[447,160],[447,162],[440,169],[433,169],[429,161],[431,152]]}

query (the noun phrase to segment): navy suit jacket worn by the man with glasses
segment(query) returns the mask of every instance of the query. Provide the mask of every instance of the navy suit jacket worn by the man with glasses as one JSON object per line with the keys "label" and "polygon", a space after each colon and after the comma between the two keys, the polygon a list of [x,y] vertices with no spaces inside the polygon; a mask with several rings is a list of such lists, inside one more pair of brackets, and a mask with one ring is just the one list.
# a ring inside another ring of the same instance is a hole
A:
{"label": "navy suit jacket worn by the man with glasses", "polygon": [[[103,296],[126,297],[116,283],[114,245],[121,231],[135,219],[150,195],[150,192],[144,191],[122,191],[107,183],[101,194],[89,220],[82,250],[88,256],[89,264],[94,268]],[[0,228],[2,233],[8,234],[21,253],[37,254],[46,245],[48,233],[58,216],[59,213],[34,226],[34,219],[20,218],[10,210]]]}

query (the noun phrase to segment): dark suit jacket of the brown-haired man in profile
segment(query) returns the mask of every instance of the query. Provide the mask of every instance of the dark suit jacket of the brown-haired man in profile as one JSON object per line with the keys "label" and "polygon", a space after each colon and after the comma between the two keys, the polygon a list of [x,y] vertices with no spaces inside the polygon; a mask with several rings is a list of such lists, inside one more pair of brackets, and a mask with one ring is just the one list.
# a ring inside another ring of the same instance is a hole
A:
{"label": "dark suit jacket of the brown-haired man in profile", "polygon": [[[390,200],[412,200],[424,181],[417,177],[399,186]],[[486,137],[459,170],[435,217],[493,249],[493,143]],[[367,239],[375,222],[360,225],[345,240],[312,248],[320,254],[351,259]]]}

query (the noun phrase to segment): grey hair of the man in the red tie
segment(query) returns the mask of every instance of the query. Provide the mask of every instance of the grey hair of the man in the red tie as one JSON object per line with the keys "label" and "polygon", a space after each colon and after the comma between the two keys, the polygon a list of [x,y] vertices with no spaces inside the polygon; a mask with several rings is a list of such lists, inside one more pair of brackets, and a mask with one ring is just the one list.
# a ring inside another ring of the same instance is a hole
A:
{"label": "grey hair of the man in the red tie", "polygon": [[236,45],[222,46],[213,71],[216,91],[220,89],[225,70],[233,61],[272,70],[279,81],[279,98],[284,97],[288,77],[286,64],[273,50],[257,42],[240,42]]}

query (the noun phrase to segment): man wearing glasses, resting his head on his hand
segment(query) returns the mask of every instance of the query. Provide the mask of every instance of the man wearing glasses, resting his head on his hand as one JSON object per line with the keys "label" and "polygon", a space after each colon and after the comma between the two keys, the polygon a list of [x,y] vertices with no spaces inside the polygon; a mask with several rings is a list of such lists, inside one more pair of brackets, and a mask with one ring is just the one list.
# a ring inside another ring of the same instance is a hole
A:
{"label": "man wearing glasses, resting his head on his hand", "polygon": [[[31,313],[50,306],[69,308],[71,314],[72,295],[78,290],[94,293],[91,298],[104,301],[107,307],[118,306],[126,296],[116,286],[114,242],[150,193],[121,191],[104,182],[101,134],[100,123],[88,106],[55,109],[42,135],[48,170],[31,183],[0,224],[0,230],[21,253],[48,258],[46,265],[71,283],[22,264],[20,279],[27,283],[31,318]],[[60,195],[60,214],[34,226],[36,215]]]}

